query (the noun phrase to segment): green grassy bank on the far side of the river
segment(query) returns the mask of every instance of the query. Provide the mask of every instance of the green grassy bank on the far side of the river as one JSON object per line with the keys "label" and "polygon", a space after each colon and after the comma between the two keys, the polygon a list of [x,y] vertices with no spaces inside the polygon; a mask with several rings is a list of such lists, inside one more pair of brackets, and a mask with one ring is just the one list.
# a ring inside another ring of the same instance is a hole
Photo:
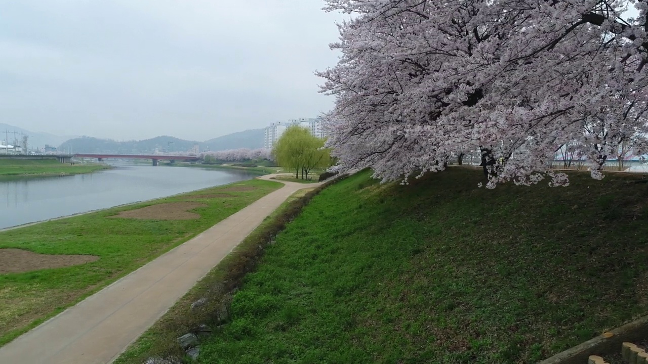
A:
{"label": "green grassy bank on the far side of the river", "polygon": [[60,174],[83,174],[107,169],[98,164],[70,165],[56,159],[9,159],[0,158],[0,176],[58,176]]}

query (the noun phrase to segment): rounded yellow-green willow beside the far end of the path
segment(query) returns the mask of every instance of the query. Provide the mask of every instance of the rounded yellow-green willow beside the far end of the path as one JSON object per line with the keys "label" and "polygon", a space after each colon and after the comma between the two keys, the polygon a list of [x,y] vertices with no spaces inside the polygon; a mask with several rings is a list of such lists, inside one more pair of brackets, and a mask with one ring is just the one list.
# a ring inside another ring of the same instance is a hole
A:
{"label": "rounded yellow-green willow beside the far end of the path", "polygon": [[281,135],[272,155],[277,165],[295,170],[295,178],[307,179],[313,168],[330,165],[329,150],[323,148],[324,139],[315,137],[307,128],[290,126]]}

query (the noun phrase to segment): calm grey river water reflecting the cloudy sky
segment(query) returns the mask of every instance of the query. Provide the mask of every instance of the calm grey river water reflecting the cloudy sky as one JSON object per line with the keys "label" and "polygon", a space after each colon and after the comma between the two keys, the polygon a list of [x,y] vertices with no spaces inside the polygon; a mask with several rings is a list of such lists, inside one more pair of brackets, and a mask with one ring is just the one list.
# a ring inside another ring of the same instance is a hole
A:
{"label": "calm grey river water reflecting the cloudy sky", "polygon": [[0,179],[0,229],[253,177],[237,170],[115,165],[93,174]]}

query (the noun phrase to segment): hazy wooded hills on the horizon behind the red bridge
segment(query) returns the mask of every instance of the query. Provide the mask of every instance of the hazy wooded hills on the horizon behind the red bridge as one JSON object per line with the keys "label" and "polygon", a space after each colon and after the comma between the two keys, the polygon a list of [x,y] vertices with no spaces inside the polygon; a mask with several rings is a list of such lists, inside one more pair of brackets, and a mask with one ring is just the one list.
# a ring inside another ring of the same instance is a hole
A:
{"label": "hazy wooded hills on the horizon behind the red bridge", "polygon": [[98,139],[94,137],[79,137],[65,141],[60,150],[71,150],[73,153],[113,153],[113,154],[135,154],[154,152],[187,152],[198,144],[200,151],[207,149],[211,151],[238,149],[238,148],[262,148],[263,129],[240,131],[210,139],[205,142],[185,141],[176,137],[161,136],[143,141],[118,142],[110,139]]}

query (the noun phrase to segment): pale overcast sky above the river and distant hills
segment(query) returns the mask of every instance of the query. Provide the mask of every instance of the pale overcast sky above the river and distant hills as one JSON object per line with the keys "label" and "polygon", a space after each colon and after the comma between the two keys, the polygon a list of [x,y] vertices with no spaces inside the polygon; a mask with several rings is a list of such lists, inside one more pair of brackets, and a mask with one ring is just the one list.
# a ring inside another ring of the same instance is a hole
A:
{"label": "pale overcast sky above the river and distant hills", "polygon": [[332,108],[321,0],[0,0],[0,122],[205,140]]}

